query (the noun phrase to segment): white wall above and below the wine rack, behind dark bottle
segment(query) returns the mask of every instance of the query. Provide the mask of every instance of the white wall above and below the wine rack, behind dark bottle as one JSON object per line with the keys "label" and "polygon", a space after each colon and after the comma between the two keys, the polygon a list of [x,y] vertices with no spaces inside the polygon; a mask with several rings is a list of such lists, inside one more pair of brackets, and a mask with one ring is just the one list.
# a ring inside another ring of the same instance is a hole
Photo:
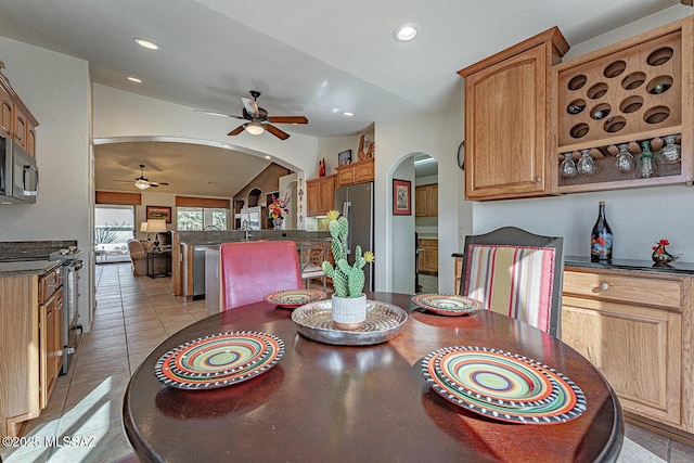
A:
{"label": "white wall above and below the wine rack, behind dark bottle", "polygon": [[[573,46],[567,56],[576,57],[689,14],[692,14],[691,8],[672,7]],[[615,258],[650,260],[653,245],[660,239],[667,239],[669,252],[684,253],[682,260],[694,261],[693,200],[692,188],[673,185],[475,203],[473,231],[484,233],[513,224],[538,234],[564,236],[566,255],[589,256],[590,232],[597,218],[597,203],[605,201],[607,221],[615,239]]]}

